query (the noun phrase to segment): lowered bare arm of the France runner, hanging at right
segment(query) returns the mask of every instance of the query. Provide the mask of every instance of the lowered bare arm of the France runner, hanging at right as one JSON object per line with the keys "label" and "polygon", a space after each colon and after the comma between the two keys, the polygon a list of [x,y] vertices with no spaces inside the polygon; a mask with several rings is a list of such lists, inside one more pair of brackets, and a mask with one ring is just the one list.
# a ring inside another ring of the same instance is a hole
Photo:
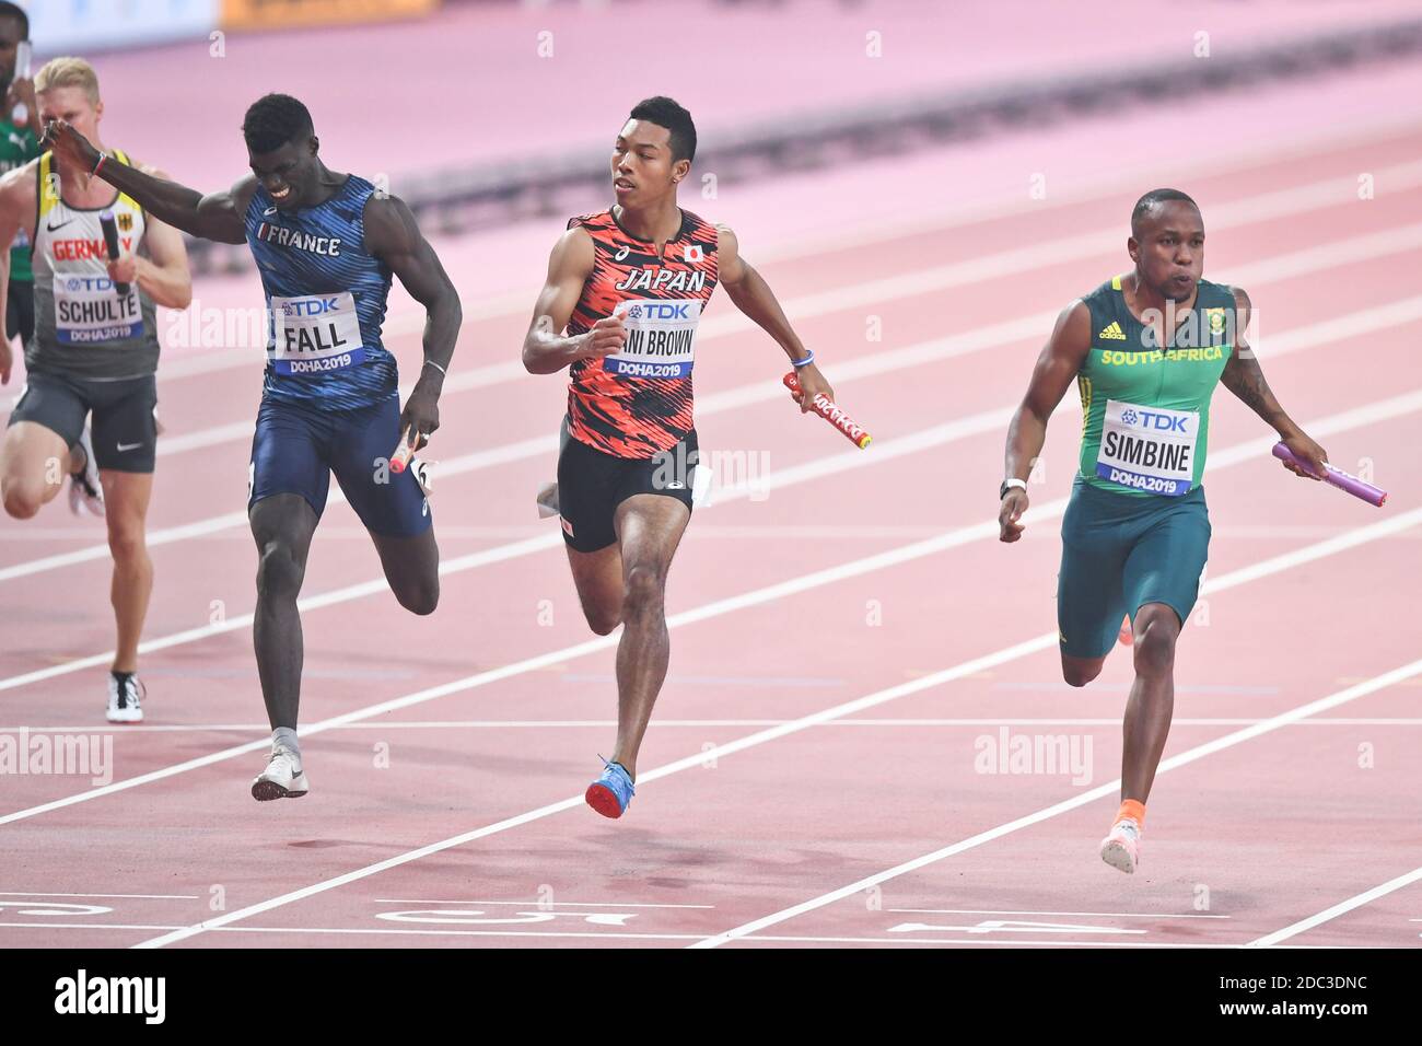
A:
{"label": "lowered bare arm of the France runner, hanging at right", "polygon": [[400,431],[412,427],[429,435],[439,427],[439,391],[464,323],[459,292],[419,232],[415,216],[397,196],[365,201],[365,249],[388,265],[410,296],[425,306],[425,361],[400,416]]}

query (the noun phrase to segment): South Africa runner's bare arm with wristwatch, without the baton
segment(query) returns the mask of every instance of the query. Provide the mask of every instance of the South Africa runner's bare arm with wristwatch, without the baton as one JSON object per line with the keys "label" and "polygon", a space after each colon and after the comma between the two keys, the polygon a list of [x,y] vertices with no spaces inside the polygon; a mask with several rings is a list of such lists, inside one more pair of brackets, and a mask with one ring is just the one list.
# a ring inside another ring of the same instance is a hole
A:
{"label": "South Africa runner's bare arm with wristwatch, without the baton", "polygon": [[[1032,474],[1032,465],[1047,443],[1047,420],[1062,401],[1091,350],[1091,309],[1082,300],[1075,300],[1062,309],[1047,339],[1042,354],[1037,357],[1037,369],[1027,386],[1022,404],[1012,414],[1007,427],[1007,478],[1022,480]],[[1014,487],[1003,498],[997,514],[1001,541],[1017,541],[1022,537],[1022,512],[1027,511],[1027,491]]]}

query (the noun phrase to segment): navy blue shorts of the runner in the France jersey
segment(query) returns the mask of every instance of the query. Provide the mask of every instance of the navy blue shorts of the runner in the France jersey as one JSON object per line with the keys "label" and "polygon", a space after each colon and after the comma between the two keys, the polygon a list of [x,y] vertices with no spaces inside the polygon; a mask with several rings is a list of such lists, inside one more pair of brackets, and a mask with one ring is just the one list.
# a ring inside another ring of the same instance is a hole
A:
{"label": "navy blue shorts of the runner in the France jersey", "polygon": [[320,518],[331,472],[371,534],[412,538],[429,529],[429,501],[407,468],[390,471],[400,444],[400,401],[323,411],[262,400],[252,438],[247,511],[273,494],[300,494]]}

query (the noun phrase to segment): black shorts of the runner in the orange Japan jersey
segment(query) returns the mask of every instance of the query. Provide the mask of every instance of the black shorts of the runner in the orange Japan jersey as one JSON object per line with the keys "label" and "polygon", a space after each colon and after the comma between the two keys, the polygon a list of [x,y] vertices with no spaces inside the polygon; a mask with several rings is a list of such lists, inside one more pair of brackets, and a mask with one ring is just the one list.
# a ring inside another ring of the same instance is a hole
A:
{"label": "black shorts of the runner in the orange Japan jersey", "polygon": [[579,552],[596,552],[617,541],[617,505],[637,494],[675,498],[691,511],[697,434],[651,458],[619,458],[570,438],[557,455],[557,505],[563,541]]}

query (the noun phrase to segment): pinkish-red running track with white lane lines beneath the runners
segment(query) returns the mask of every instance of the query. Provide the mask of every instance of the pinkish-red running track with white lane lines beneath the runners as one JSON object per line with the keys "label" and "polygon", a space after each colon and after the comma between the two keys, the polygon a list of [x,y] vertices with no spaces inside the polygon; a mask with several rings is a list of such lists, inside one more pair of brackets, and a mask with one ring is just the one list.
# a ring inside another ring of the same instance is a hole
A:
{"label": "pinkish-red running track with white lane lines beneath the runners", "polygon": [[[724,484],[673,574],[673,670],[619,823],[580,800],[613,736],[613,643],[586,632],[557,535],[532,521],[559,381],[447,407],[439,453],[458,467],[435,487],[451,568],[435,616],[353,588],[377,561],[348,509],[327,511],[306,592],[334,595],[304,615],[300,803],[247,793],[266,727],[230,478],[246,448],[166,460],[155,531],[236,522],[154,548],[142,727],[95,731],[102,672],[77,667],[109,639],[104,561],[0,575],[36,636],[6,653],[0,734],[112,739],[111,783],[0,778],[0,944],[1416,945],[1422,662],[1399,582],[1422,565],[1419,144],[1418,127],[1317,142],[1190,184],[1206,272],[1249,287],[1273,386],[1392,498],[1379,512],[1294,480],[1220,393],[1207,589],[1136,877],[1095,855],[1129,657],[1071,690],[1054,652],[1072,397],[1027,539],[1003,546],[991,524],[1049,315],[1126,265],[1121,199],[1084,194],[1048,228],[1024,208],[764,266],[806,342],[832,347],[840,398],[876,437],[863,454],[798,418],[774,349],[714,309],[700,430]],[[1375,199],[1357,198],[1359,171],[1386,172]],[[475,319],[464,344],[503,352],[520,326]],[[412,339],[395,344],[408,364]],[[228,420],[230,383],[169,383],[171,438]],[[75,542],[7,548],[14,569]],[[373,642],[387,635],[394,653]],[[998,759],[1017,739],[1041,759]]]}

